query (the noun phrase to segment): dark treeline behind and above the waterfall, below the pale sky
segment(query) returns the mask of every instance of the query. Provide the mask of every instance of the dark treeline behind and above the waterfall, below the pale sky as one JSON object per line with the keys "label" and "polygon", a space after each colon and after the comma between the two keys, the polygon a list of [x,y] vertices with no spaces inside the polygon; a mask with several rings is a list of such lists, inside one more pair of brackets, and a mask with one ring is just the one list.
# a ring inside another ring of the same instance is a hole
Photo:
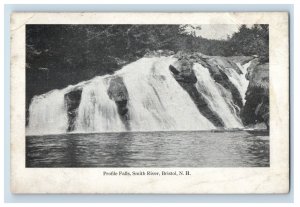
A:
{"label": "dark treeline behind and above the waterfall, below the pale sky", "polygon": [[[189,25],[191,26],[191,25]],[[187,32],[187,25],[27,25],[26,103],[33,95],[113,73],[147,51],[257,55],[268,61],[268,25],[242,25],[227,40]],[[196,28],[201,29],[201,28]]]}

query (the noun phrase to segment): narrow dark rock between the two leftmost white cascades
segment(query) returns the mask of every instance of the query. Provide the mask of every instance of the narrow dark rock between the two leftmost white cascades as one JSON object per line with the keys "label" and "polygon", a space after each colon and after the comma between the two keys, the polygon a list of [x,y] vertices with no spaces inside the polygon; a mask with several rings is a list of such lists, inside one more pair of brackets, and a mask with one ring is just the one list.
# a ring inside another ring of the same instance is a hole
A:
{"label": "narrow dark rock between the two leftmost white cascades", "polygon": [[78,115],[78,107],[81,100],[81,94],[82,88],[77,88],[69,93],[66,93],[64,96],[65,106],[68,113],[68,132],[71,132],[75,129],[75,121]]}

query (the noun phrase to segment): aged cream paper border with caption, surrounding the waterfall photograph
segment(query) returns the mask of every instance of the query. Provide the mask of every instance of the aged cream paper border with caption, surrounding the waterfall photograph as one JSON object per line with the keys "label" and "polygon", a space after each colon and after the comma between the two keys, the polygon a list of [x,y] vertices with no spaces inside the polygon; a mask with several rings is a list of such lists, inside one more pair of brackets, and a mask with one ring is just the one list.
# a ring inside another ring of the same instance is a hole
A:
{"label": "aged cream paper border with caption, surrounding the waterfall photograph", "polygon": [[[34,24],[268,24],[270,59],[269,166],[26,167],[25,31],[26,25]],[[13,13],[10,30],[11,191],[13,193],[288,193],[288,25],[288,14],[283,12]],[[169,174],[163,175],[163,172],[169,172]],[[183,175],[172,175],[172,172],[177,174],[182,172]]]}

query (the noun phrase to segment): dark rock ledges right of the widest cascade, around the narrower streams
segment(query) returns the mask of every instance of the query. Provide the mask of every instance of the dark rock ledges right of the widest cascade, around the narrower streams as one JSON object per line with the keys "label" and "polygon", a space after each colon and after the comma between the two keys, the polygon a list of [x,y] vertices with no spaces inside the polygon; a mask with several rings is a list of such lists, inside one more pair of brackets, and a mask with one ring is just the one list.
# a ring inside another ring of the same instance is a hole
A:
{"label": "dark rock ledges right of the widest cascade, around the narrower streams", "polygon": [[[170,55],[172,52],[152,52],[147,57]],[[170,65],[176,81],[189,93],[199,111],[215,126],[224,127],[224,122],[209,107],[204,94],[197,91],[195,83],[197,78],[192,70],[195,63],[199,63],[210,72],[214,81],[231,93],[235,110],[245,127],[262,128],[265,123],[269,129],[269,63],[260,63],[255,56],[207,56],[201,53],[178,52],[174,55],[178,61]],[[239,66],[250,63],[245,74]],[[249,81],[246,93],[241,94],[237,87],[229,80],[227,68],[233,68],[238,74],[245,76]],[[242,95],[245,97],[243,104]]]}

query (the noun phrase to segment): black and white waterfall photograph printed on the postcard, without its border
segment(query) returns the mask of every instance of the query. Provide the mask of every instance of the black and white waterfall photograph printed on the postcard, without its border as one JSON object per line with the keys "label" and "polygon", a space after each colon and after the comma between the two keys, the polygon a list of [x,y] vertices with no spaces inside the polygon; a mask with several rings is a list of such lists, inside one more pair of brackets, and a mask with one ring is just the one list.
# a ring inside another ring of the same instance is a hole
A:
{"label": "black and white waterfall photograph printed on the postcard, without its border", "polygon": [[268,24],[27,24],[26,167],[269,167]]}

